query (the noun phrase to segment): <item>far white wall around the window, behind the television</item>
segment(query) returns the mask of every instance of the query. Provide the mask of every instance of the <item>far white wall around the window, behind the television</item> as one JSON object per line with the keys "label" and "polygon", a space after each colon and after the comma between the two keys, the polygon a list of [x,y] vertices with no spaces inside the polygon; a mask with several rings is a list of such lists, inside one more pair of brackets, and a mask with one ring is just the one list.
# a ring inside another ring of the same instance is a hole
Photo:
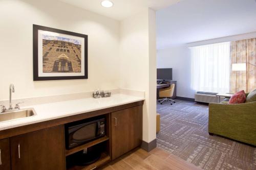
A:
{"label": "far white wall around the window, behind the television", "polygon": [[157,51],[157,68],[173,68],[173,80],[177,81],[177,96],[195,98],[191,86],[190,50],[188,47],[236,41],[256,37],[256,32],[187,43]]}

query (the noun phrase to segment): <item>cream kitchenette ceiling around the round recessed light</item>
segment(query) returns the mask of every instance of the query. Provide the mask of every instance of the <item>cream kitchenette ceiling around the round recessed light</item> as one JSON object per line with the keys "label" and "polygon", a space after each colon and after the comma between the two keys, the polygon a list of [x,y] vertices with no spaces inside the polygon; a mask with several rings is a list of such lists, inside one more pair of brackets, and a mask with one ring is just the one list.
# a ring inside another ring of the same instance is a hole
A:
{"label": "cream kitchenette ceiling around the round recessed light", "polygon": [[114,3],[111,8],[101,6],[103,0],[58,0],[79,8],[83,8],[117,20],[123,20],[145,8],[159,10],[175,4],[180,0],[110,0]]}

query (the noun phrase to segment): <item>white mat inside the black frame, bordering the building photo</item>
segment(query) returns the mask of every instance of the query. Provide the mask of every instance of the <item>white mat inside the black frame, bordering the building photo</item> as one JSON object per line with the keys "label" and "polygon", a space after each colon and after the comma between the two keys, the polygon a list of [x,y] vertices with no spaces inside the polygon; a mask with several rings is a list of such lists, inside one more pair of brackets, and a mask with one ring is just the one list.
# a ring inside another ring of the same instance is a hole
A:
{"label": "white mat inside the black frame, bordering the building photo", "polygon": [[81,72],[42,72],[42,35],[44,34],[44,30],[38,30],[38,77],[63,77],[63,76],[85,76],[84,74],[84,38],[67,35],[67,34],[60,34],[54,33],[55,36],[63,37],[63,38],[70,38],[76,39],[81,41]]}

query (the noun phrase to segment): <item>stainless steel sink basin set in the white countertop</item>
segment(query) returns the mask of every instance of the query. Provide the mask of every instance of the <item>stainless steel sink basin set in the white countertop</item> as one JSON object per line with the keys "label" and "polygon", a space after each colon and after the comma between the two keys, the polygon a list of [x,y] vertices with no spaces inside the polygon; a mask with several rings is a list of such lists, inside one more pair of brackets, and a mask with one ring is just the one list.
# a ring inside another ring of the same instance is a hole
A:
{"label": "stainless steel sink basin set in the white countertop", "polygon": [[7,111],[4,113],[0,113],[0,122],[26,118],[34,115],[36,115],[36,113],[33,108],[20,109],[20,110],[11,111],[11,112]]}

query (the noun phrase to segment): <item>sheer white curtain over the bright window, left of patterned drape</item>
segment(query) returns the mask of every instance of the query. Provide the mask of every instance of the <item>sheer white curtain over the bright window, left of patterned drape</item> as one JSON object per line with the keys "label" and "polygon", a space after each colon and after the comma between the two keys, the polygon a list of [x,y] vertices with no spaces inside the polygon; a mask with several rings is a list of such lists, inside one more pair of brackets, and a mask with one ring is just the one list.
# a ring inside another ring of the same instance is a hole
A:
{"label": "sheer white curtain over the bright window, left of patterned drape", "polygon": [[191,47],[191,86],[196,91],[229,92],[230,42]]}

